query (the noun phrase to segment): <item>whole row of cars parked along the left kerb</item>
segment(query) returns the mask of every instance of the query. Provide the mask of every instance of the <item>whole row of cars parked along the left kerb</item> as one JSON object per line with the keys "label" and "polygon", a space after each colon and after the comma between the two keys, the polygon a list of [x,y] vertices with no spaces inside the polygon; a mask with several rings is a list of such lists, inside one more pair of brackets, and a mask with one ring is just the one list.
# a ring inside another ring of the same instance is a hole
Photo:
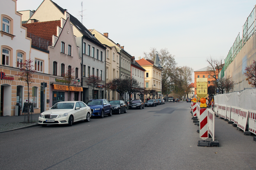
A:
{"label": "whole row of cars parked along the left kerb", "polygon": [[[144,109],[144,106],[163,105],[163,99],[150,99],[145,105],[140,100],[132,100],[128,105],[129,109]],[[91,99],[86,104],[81,101],[72,102],[58,102],[52,106],[48,111],[40,114],[38,124],[42,126],[52,124],[66,124],[72,126],[74,122],[84,120],[90,122],[91,116],[103,118],[106,114],[112,116],[112,113],[126,113],[127,105],[123,100],[112,100],[108,102],[107,99]]]}

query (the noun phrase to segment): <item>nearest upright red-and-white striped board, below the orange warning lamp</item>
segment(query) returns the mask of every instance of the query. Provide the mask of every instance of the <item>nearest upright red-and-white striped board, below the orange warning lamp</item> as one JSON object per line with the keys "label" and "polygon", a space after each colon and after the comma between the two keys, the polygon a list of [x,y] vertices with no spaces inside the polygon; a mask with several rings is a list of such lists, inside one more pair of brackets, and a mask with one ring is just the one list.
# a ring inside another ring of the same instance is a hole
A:
{"label": "nearest upright red-and-white striped board, below the orange warning lamp", "polygon": [[200,120],[199,120],[199,127],[200,127],[200,138],[205,140],[208,136],[208,115],[207,115],[207,108],[200,108]]}

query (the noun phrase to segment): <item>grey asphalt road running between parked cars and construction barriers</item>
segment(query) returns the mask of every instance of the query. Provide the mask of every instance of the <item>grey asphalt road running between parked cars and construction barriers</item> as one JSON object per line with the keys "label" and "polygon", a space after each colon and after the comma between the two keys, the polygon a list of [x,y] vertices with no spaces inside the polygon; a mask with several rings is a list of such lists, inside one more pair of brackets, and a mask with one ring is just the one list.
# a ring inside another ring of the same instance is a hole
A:
{"label": "grey asphalt road running between parked cars and construction barriers", "polygon": [[1,170],[253,170],[256,142],[215,118],[220,147],[198,147],[190,103],[0,133]]}

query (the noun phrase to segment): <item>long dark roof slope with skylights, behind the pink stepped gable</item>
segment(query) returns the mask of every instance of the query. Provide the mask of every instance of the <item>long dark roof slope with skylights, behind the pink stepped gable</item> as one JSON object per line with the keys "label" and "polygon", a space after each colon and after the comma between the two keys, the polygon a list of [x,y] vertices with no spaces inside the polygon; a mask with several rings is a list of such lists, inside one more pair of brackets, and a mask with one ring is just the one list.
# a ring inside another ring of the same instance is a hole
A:
{"label": "long dark roof slope with skylights, behind the pink stepped gable", "polygon": [[[52,0],[51,0],[52,1]],[[61,8],[60,6],[58,6],[57,3],[53,2],[52,3],[64,14],[66,10],[64,10],[63,8]],[[69,13],[70,14],[70,13]],[[84,35],[85,38],[87,38],[88,40],[96,43],[97,45],[101,46],[102,48],[105,48],[104,45],[102,45],[101,42],[99,42],[99,40],[97,40],[93,34],[90,33],[90,31],[85,28],[85,26],[73,15],[70,14],[70,22],[81,32],[81,34]]]}

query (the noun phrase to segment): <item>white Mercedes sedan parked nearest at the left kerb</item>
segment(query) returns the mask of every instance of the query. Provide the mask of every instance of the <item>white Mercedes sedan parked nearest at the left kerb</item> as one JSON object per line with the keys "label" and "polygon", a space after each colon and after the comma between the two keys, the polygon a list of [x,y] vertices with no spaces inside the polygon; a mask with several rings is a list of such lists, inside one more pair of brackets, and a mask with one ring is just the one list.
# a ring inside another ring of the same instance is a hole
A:
{"label": "white Mercedes sedan parked nearest at the left kerb", "polygon": [[91,109],[84,102],[58,102],[48,111],[40,114],[38,124],[42,126],[53,124],[67,124],[84,120],[90,122]]}

